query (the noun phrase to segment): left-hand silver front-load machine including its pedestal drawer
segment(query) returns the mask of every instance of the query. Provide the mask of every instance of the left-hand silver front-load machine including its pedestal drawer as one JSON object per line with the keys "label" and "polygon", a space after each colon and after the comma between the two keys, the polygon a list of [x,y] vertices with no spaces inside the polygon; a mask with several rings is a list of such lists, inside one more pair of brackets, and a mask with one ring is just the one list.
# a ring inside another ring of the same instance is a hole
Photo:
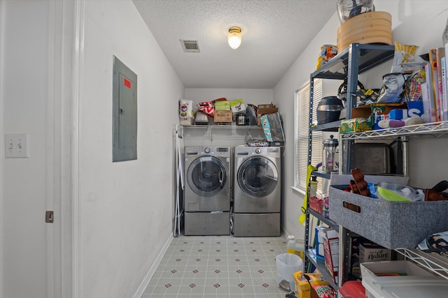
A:
{"label": "left-hand silver front-load machine including its pedestal drawer", "polygon": [[185,147],[184,234],[230,234],[230,147]]}

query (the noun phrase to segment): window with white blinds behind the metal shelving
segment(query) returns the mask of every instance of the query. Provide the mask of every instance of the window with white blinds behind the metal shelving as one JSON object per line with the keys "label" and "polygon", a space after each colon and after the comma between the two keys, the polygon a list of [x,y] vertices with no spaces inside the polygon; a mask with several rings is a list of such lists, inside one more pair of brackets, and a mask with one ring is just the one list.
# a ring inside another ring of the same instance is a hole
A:
{"label": "window with white blinds behind the metal shelving", "polygon": [[[314,80],[313,92],[313,123],[317,123],[316,107],[321,100],[322,80]],[[309,137],[309,82],[295,92],[295,187],[305,191],[308,185],[308,137]],[[311,165],[317,165],[322,161],[322,133],[312,133]],[[321,191],[321,183],[318,191]]]}

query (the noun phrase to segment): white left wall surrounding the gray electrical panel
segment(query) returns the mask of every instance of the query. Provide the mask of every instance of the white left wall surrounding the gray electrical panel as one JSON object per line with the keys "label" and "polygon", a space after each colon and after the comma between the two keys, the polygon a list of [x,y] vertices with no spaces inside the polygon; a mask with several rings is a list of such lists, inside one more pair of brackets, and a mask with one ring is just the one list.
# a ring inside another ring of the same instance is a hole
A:
{"label": "white left wall surrounding the gray electrical panel", "polygon": [[[113,55],[138,77],[137,161],[112,163]],[[83,65],[83,297],[130,297],[172,237],[183,84],[130,0],[85,1]]]}

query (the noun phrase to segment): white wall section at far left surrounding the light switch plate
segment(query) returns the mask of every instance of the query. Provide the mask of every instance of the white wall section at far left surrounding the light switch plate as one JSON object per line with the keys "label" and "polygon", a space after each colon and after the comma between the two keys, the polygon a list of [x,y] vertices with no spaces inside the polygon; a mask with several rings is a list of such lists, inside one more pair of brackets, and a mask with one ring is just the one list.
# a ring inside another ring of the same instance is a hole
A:
{"label": "white wall section at far left surrounding the light switch plate", "polygon": [[[43,298],[48,3],[1,1],[0,13],[0,297]],[[29,158],[4,158],[9,133],[29,135]]]}

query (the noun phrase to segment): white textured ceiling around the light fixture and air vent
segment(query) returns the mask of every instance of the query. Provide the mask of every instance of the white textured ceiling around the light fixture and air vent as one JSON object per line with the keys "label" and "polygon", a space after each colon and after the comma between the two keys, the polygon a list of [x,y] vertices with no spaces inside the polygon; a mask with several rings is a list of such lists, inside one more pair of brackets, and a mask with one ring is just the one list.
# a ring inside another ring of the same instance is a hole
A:
{"label": "white textured ceiling around the light fixture and air vent", "polygon": [[[336,12],[335,0],[132,1],[186,88],[272,89]],[[232,26],[241,27],[237,50]],[[197,40],[200,52],[184,52],[181,40]]]}

